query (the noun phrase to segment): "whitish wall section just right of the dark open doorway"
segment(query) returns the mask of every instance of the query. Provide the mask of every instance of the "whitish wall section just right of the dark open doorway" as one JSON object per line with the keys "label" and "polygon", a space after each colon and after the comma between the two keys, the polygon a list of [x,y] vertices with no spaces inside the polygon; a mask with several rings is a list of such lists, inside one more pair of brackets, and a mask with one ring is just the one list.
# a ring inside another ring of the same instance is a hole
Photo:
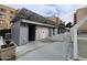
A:
{"label": "whitish wall section just right of the dark open doorway", "polygon": [[48,28],[37,25],[35,31],[35,40],[45,39],[47,36],[48,36]]}

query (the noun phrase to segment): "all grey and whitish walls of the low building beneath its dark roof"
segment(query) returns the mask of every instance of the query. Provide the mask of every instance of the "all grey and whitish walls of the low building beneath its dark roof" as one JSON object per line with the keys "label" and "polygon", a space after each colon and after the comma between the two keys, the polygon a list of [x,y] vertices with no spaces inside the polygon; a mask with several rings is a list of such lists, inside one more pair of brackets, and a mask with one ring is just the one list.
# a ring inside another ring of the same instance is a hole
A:
{"label": "all grey and whitish walls of the low building beneath its dark roof", "polygon": [[[57,34],[57,29],[54,30],[54,34]],[[53,28],[51,28],[51,35],[53,35]],[[35,28],[35,40],[42,40],[50,36],[50,28],[36,25]],[[24,45],[29,42],[29,25],[15,22],[12,26],[12,40],[18,45]]]}

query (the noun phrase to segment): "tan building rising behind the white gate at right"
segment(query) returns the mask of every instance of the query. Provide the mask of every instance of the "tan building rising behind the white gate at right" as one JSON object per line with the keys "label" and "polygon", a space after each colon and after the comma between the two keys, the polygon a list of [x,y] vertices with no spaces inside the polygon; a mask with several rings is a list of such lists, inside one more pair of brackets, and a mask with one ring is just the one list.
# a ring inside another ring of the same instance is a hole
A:
{"label": "tan building rising behind the white gate at right", "polygon": [[[84,19],[87,15],[87,7],[77,9],[74,13],[74,23],[81,22],[80,20]],[[80,30],[87,30],[87,24],[84,23],[80,26]]]}

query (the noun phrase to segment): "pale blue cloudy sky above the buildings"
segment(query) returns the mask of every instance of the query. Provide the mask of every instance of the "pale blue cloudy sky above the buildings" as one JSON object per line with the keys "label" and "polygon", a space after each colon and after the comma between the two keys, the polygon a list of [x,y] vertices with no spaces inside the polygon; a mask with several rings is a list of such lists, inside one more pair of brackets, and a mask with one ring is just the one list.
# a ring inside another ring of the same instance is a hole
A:
{"label": "pale blue cloudy sky above the buildings", "polygon": [[43,17],[59,17],[63,21],[73,22],[76,9],[86,7],[85,4],[8,4],[14,9],[26,8]]}

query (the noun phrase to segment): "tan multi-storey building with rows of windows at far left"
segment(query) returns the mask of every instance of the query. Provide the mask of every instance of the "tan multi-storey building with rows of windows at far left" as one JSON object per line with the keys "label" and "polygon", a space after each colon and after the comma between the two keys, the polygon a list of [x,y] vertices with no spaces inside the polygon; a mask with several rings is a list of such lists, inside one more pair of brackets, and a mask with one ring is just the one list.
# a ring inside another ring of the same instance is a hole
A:
{"label": "tan multi-storey building with rows of windows at far left", "polygon": [[11,28],[11,20],[14,18],[15,12],[15,9],[0,4],[0,30]]}

